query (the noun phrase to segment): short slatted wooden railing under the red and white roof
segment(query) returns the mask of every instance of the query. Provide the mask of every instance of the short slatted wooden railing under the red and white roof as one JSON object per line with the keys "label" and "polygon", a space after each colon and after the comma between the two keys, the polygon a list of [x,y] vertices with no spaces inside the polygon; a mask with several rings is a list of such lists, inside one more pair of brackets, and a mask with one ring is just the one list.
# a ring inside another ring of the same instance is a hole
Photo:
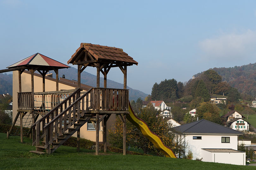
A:
{"label": "short slatted wooden railing under the red and white roof", "polygon": [[34,93],[32,92],[18,93],[18,109],[19,110],[34,109]]}

